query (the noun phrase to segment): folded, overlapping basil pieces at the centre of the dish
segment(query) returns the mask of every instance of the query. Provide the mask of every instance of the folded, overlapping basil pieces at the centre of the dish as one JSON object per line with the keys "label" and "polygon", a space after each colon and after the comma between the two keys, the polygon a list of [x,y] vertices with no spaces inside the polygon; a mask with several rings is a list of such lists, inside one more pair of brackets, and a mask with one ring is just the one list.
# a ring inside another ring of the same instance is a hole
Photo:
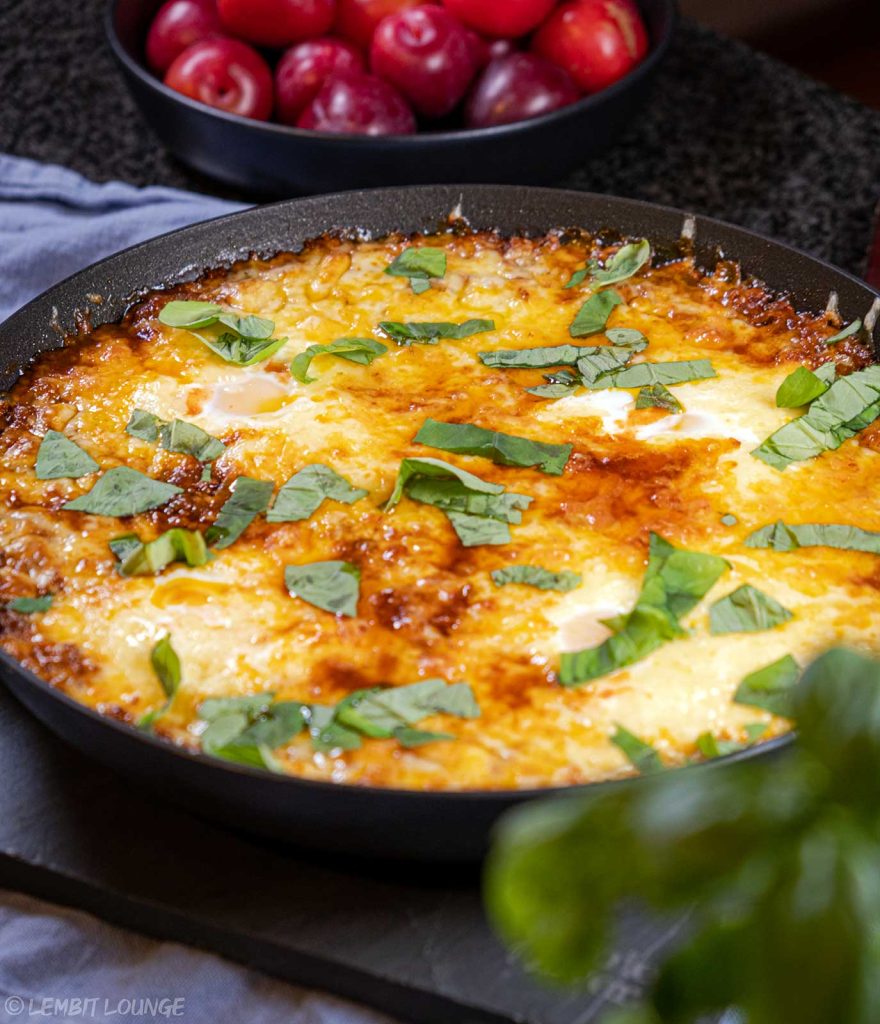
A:
{"label": "folded, overlapping basil pieces at the centre of the dish", "polygon": [[527,495],[506,494],[501,484],[438,459],[404,459],[385,510],[394,508],[405,493],[444,511],[467,548],[509,543],[507,524],[521,522],[521,510],[532,502]]}

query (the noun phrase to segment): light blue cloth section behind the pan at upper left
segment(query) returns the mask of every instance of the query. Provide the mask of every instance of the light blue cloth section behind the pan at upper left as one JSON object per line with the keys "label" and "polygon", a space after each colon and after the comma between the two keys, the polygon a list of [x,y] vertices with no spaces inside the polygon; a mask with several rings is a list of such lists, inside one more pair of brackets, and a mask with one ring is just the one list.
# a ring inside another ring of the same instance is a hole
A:
{"label": "light blue cloth section behind the pan at upper left", "polygon": [[241,204],[121,181],[0,154],[0,322],[102,256]]}

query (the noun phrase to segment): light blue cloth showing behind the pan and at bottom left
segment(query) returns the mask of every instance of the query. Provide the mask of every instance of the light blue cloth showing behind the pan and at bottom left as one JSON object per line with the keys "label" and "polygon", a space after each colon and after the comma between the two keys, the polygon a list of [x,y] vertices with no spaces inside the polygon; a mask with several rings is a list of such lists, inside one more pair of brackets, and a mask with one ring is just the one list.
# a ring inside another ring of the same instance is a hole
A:
{"label": "light blue cloth showing behind the pan and at bottom left", "polygon": [[[236,203],[173,188],[95,184],[64,167],[0,154],[0,322],[102,256],[237,209]],[[172,1001],[140,1015],[137,1006],[125,1002],[150,998]],[[180,1006],[173,1004],[175,998],[183,1000],[182,1013],[175,1012]],[[185,1024],[391,1024],[366,1009],[271,980],[219,956],[0,892],[0,1024],[35,1018],[46,1024],[165,1019]]]}

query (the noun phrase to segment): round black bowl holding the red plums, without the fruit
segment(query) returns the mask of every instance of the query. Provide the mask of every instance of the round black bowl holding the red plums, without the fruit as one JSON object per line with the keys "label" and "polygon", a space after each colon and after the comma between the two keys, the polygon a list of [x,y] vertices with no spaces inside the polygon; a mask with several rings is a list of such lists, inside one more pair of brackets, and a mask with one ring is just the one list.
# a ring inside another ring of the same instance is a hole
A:
{"label": "round black bowl holding the red plums, without the fruit", "polygon": [[676,24],[675,0],[638,0],[651,52],[615,85],[543,117],[418,135],[327,135],[224,114],[167,88],[143,42],[162,0],[112,0],[107,32],[132,95],[184,163],[249,193],[290,196],[369,185],[558,180],[602,150],[644,103]]}

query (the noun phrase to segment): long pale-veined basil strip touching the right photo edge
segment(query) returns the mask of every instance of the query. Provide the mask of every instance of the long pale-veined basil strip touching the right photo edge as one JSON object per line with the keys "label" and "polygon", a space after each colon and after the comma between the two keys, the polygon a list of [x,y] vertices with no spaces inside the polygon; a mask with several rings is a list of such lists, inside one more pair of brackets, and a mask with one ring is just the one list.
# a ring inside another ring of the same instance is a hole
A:
{"label": "long pale-veined basil strip touching the right photo edge", "polygon": [[774,469],[831,452],[880,416],[880,366],[841,377],[752,455]]}

